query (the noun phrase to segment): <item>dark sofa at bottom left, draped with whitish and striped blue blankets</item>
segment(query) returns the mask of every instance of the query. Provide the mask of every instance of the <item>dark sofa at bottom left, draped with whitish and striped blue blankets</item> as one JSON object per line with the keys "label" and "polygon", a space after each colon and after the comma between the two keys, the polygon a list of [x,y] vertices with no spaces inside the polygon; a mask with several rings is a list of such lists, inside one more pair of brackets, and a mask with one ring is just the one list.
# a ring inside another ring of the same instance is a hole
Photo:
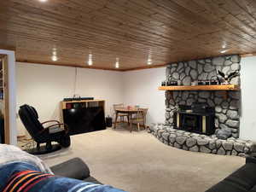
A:
{"label": "dark sofa at bottom left, draped with whitish and striped blue blankets", "polygon": [[0,191],[124,192],[98,182],[79,158],[53,166],[15,146],[0,144]]}

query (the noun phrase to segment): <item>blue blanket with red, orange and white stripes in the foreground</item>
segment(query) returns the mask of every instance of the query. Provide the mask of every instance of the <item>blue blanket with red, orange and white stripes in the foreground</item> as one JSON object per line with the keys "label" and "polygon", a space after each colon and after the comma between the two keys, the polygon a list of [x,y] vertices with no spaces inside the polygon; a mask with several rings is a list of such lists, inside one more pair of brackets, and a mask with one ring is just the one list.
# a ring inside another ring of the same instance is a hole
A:
{"label": "blue blanket with red, orange and white stripes in the foreground", "polygon": [[124,192],[108,185],[87,183],[73,178],[40,172],[29,163],[9,163],[0,166],[2,192]]}

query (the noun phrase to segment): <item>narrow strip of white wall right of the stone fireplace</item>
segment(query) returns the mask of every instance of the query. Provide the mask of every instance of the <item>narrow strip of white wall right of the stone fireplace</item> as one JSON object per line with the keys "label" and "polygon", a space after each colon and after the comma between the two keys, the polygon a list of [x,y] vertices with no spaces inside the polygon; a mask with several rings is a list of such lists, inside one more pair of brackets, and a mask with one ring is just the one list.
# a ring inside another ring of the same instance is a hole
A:
{"label": "narrow strip of white wall right of the stone fireplace", "polygon": [[256,56],[241,58],[240,137],[256,141]]}

